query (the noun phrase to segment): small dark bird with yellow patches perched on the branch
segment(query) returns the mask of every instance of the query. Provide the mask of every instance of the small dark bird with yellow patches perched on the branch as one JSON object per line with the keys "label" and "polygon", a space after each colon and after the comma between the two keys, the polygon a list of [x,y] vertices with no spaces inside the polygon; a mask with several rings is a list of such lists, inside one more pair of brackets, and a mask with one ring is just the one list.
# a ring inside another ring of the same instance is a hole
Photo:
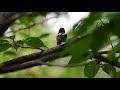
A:
{"label": "small dark bird with yellow patches perched on the branch", "polygon": [[65,29],[61,27],[57,35],[57,45],[61,45],[62,42],[65,42],[67,39],[67,34],[65,34]]}

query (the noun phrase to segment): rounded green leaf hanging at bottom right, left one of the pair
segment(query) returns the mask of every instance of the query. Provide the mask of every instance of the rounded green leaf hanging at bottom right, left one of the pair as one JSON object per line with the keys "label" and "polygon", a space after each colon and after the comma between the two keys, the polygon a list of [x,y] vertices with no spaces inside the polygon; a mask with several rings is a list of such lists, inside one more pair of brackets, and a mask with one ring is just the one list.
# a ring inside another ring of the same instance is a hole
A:
{"label": "rounded green leaf hanging at bottom right, left one of the pair", "polygon": [[86,77],[93,78],[95,77],[99,69],[100,65],[96,61],[88,62],[84,68],[84,75]]}

